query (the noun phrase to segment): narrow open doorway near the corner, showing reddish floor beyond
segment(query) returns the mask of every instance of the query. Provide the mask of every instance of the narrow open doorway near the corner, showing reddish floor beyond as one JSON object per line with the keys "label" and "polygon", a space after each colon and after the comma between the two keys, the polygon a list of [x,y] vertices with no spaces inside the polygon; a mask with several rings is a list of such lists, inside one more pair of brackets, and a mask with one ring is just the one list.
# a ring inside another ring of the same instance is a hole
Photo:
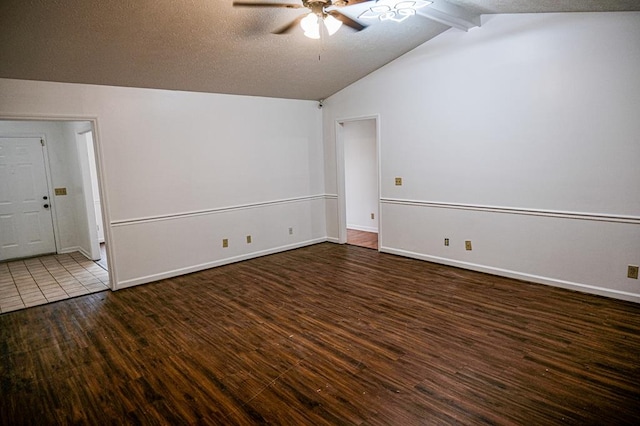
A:
{"label": "narrow open doorway near the corner, showing reddish floor beyond", "polygon": [[340,123],[346,243],[376,250],[380,223],[377,133],[376,118]]}

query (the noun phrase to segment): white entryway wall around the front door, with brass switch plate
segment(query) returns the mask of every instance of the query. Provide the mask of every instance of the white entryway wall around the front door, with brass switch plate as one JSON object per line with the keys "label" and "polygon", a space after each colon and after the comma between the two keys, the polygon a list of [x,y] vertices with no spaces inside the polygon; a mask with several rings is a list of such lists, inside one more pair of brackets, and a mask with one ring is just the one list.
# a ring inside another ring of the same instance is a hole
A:
{"label": "white entryway wall around the front door, with brass switch plate", "polygon": [[[35,136],[46,142],[50,194],[56,250],[58,253],[84,251],[82,241],[87,232],[82,199],[82,179],[75,146],[74,125],[56,121],[0,120],[0,135]],[[67,195],[56,196],[53,188],[67,188]],[[85,251],[86,253],[86,251]]]}

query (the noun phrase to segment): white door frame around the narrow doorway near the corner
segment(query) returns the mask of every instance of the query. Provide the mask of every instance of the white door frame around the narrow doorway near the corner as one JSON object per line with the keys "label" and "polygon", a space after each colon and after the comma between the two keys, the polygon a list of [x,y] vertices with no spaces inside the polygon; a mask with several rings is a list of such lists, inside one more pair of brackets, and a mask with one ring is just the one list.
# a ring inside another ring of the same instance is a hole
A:
{"label": "white door frame around the narrow doorway near the corner", "polygon": [[380,114],[351,118],[339,118],[335,121],[336,132],[336,185],[338,190],[338,243],[347,242],[347,191],[345,186],[344,123],[352,121],[374,120],[376,127],[376,162],[378,174],[378,251],[382,247],[382,208],[380,205],[381,157],[380,157]]}

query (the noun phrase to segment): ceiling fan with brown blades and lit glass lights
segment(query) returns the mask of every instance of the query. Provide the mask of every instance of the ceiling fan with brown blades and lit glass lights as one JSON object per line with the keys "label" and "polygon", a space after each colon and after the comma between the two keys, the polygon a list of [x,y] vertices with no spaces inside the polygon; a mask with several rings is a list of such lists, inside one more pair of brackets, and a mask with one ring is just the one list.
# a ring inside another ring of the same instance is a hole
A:
{"label": "ceiling fan with brown blades and lit glass lights", "polygon": [[287,9],[309,9],[306,15],[301,15],[287,25],[277,29],[273,34],[286,34],[291,32],[298,24],[304,30],[304,35],[309,38],[320,38],[320,22],[329,35],[335,34],[342,24],[361,31],[366,28],[359,22],[354,21],[346,15],[340,13],[338,9],[344,6],[351,6],[358,3],[365,3],[371,0],[302,0],[302,4],[295,3],[255,3],[247,1],[234,1],[235,7],[279,7]]}

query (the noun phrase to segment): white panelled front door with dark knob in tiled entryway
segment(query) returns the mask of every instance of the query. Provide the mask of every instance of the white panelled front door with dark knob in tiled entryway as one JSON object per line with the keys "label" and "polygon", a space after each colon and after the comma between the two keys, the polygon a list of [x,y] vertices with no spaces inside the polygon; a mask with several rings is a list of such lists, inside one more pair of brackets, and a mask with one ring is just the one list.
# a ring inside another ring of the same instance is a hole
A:
{"label": "white panelled front door with dark knob in tiled entryway", "polygon": [[0,260],[55,253],[40,138],[0,137]]}

